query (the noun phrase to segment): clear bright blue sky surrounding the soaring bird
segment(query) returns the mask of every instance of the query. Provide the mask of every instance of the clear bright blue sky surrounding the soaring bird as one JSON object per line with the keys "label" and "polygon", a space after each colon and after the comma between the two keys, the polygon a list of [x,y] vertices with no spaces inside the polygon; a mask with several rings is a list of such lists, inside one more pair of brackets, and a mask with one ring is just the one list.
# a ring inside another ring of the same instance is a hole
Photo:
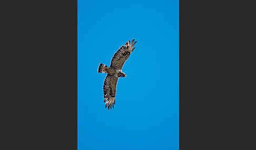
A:
{"label": "clear bright blue sky surrounding the soaring bird", "polygon": [[[137,40],[103,103],[115,51]],[[179,1],[78,0],[78,149],[179,149]]]}

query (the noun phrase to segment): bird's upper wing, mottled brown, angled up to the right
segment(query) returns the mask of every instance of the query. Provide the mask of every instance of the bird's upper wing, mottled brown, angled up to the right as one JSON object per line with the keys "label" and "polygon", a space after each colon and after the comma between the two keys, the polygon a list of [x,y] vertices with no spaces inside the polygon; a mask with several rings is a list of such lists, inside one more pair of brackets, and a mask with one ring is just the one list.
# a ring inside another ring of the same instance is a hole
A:
{"label": "bird's upper wing, mottled brown, angled up to the right", "polygon": [[125,45],[121,46],[119,48],[119,50],[117,50],[114,54],[114,56],[112,57],[111,63],[110,63],[110,67],[114,67],[116,69],[122,69],[124,62],[129,58],[129,56],[131,55],[132,51],[134,50],[133,46],[135,45],[135,42],[133,42],[134,39],[130,42],[130,40],[128,42],[125,43]]}

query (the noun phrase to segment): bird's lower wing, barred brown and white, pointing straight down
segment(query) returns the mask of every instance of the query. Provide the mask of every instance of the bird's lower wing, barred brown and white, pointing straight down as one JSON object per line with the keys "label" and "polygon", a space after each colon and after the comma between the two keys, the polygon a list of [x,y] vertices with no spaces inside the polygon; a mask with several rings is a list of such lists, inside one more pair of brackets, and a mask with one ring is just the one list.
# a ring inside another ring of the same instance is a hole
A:
{"label": "bird's lower wing, barred brown and white, pointing straight down", "polygon": [[103,93],[104,93],[104,102],[106,102],[105,108],[107,107],[108,109],[110,108],[112,109],[112,106],[114,108],[117,80],[118,80],[117,77],[110,74],[107,74],[104,80]]}

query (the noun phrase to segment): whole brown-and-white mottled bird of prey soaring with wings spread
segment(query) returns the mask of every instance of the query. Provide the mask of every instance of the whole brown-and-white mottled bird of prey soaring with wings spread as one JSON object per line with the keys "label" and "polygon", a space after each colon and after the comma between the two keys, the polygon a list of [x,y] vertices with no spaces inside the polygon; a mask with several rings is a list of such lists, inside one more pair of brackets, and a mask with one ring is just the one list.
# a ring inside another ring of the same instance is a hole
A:
{"label": "whole brown-and-white mottled bird of prey soaring with wings spread", "polygon": [[110,67],[107,67],[106,65],[103,65],[100,63],[100,66],[98,68],[99,73],[107,73],[107,76],[104,80],[103,84],[103,94],[104,94],[104,102],[105,108],[108,109],[114,109],[115,104],[115,93],[116,93],[116,84],[117,80],[120,77],[126,77],[126,74],[122,72],[122,67],[124,65],[124,62],[129,58],[132,51],[134,50],[135,45],[137,41],[134,42],[134,39],[130,42],[125,43],[125,45],[121,46],[119,50],[117,50],[114,53],[114,56],[112,57]]}

